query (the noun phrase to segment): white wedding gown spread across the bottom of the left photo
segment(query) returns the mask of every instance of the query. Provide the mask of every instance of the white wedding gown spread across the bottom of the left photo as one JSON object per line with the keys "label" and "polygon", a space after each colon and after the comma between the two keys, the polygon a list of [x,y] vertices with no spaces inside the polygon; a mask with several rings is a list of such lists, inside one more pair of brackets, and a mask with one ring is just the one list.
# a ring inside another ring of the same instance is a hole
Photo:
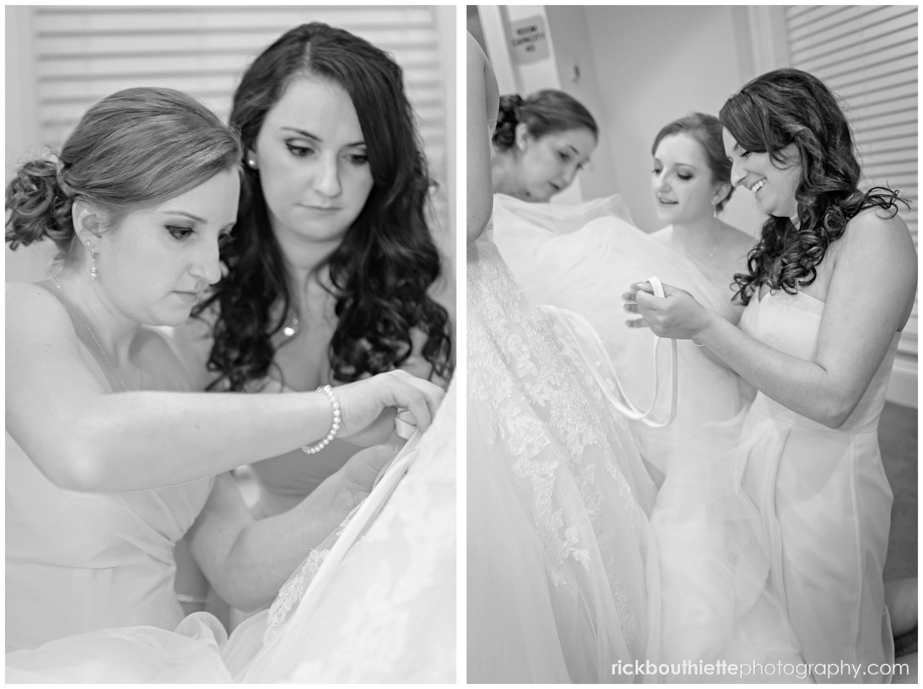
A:
{"label": "white wedding gown spread across the bottom of the left photo", "polygon": [[[295,569],[270,609],[230,639],[209,613],[189,615],[175,629],[154,614],[136,615],[133,623],[144,626],[7,654],[6,681],[454,682],[454,390],[380,514],[329,572],[322,595],[310,584],[349,520]],[[96,526],[101,540],[113,536],[105,523]]]}

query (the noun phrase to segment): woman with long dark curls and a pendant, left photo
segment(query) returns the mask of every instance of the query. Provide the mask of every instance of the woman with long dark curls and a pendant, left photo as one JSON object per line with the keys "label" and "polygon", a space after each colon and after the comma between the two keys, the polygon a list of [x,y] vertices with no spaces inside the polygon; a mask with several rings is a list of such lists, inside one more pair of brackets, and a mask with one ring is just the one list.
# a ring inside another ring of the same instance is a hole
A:
{"label": "woman with long dark curls and a pendant, left photo", "polygon": [[[247,68],[231,125],[246,151],[227,274],[180,333],[199,386],[306,391],[394,369],[444,386],[433,182],[401,67],[348,31],[299,26]],[[252,465],[257,515],[291,509],[356,449],[334,440],[312,462]]]}

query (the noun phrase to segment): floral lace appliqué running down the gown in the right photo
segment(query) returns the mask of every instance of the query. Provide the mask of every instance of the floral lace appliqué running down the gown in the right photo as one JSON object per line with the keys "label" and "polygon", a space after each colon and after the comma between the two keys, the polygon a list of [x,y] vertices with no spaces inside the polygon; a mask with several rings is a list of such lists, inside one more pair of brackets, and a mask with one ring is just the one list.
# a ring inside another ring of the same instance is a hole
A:
{"label": "floral lace appliqu\u00e9 running down the gown in the right photo", "polygon": [[[481,243],[478,249],[496,251],[493,245]],[[593,456],[601,457],[603,469],[617,484],[619,497],[635,500],[610,443],[619,430],[627,435],[628,426],[620,417],[604,420],[597,414],[597,409],[606,408],[605,400],[578,348],[559,326],[557,311],[532,308],[505,263],[498,256],[493,258],[468,263],[470,312],[476,312],[468,325],[468,396],[490,410],[486,440],[504,443],[516,458],[510,480],[519,483],[528,479],[533,484],[534,525],[545,551],[548,574],[557,586],[565,582],[561,565],[567,558],[573,557],[587,570],[592,559],[587,544],[579,542],[577,529],[567,523],[567,515],[552,509],[558,463],[537,455],[549,444],[555,445],[574,477],[593,525],[623,632],[637,640],[638,624],[622,588],[616,553],[601,524],[605,495],[597,487],[598,467],[584,464],[584,451],[594,446],[598,452]],[[522,414],[513,401],[514,390],[522,393],[540,418]],[[629,514],[631,530],[641,539],[638,515]]]}

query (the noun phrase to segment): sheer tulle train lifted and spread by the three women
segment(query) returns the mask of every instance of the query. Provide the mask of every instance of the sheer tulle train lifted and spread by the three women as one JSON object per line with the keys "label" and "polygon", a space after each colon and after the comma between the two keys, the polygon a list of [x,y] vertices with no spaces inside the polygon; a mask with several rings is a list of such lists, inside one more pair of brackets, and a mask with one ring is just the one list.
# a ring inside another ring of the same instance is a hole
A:
{"label": "sheer tulle train lifted and spread by the three women", "polygon": [[[737,322],[741,307],[713,274],[630,224],[617,197],[579,206],[495,197],[497,247],[533,302],[569,308],[592,324],[631,402],[653,390],[653,333],[630,329],[621,295],[651,276],[687,289]],[[661,376],[669,367],[661,347]],[[665,428],[629,426],[663,478],[651,514],[661,585],[659,660],[797,662],[795,634],[770,576],[770,544],[757,506],[735,481],[740,434],[755,391],[691,341],[677,342],[677,415]],[[604,355],[600,355],[604,357]],[[668,387],[668,386],[667,386]],[[665,417],[668,392],[654,417]],[[665,675],[662,681],[736,682],[735,676]],[[778,677],[750,678],[779,681]],[[783,678],[785,681],[785,678]]]}

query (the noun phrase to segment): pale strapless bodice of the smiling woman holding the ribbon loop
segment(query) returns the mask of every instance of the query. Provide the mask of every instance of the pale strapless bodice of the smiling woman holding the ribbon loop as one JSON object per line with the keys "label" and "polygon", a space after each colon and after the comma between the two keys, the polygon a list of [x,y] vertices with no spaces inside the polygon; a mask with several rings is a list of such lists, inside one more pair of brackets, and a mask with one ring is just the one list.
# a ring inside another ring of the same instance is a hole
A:
{"label": "pale strapless bodice of the smiling woman holding the ribbon loop", "polygon": [[[767,292],[762,298],[754,296],[740,319],[740,329],[765,345],[805,361],[817,357],[817,340],[821,331],[824,303],[804,292],[794,295],[783,290]],[[884,406],[888,380],[897,342],[901,333],[895,332],[888,353],[872,377],[869,387],[859,400],[853,413],[846,419],[840,432],[860,433],[878,428],[878,419]],[[784,419],[797,426],[829,431],[827,427],[790,409],[779,405],[760,393],[754,402],[772,417]]]}

